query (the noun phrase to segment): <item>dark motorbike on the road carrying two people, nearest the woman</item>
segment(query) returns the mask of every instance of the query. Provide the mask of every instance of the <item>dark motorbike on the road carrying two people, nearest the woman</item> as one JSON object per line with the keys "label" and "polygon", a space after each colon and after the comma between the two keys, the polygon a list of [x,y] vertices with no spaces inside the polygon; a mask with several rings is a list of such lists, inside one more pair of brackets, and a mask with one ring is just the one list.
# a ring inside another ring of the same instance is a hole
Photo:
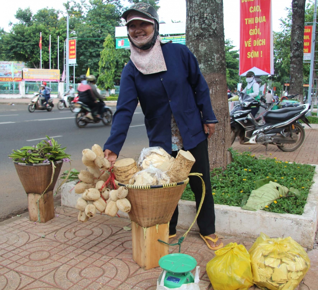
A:
{"label": "dark motorbike on the road carrying two people, nearest the woman", "polygon": [[104,125],[110,125],[112,123],[112,119],[113,119],[112,110],[105,104],[103,107],[103,113],[101,115],[101,119],[99,119],[97,117],[92,116],[91,109],[86,104],[79,102],[78,100],[75,101],[75,99],[73,103],[75,106],[74,112],[76,112],[75,122],[79,128],[84,128],[89,123],[96,124],[96,123],[99,123],[100,121],[102,121]]}

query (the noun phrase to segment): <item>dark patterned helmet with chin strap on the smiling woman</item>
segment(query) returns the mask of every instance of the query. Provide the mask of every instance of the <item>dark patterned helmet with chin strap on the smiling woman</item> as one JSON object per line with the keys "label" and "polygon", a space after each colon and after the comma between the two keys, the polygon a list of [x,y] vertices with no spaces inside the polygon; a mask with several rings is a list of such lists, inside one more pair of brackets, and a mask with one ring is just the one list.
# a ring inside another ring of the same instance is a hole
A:
{"label": "dark patterned helmet with chin strap on the smiling woman", "polygon": [[150,20],[149,22],[154,21],[155,32],[154,32],[154,36],[152,40],[149,43],[142,46],[137,46],[131,40],[129,33],[128,33],[128,39],[130,40],[133,46],[142,50],[147,50],[155,45],[157,37],[159,35],[159,17],[154,7],[152,7],[150,4],[139,2],[131,6],[128,10],[126,10],[121,17],[124,18],[126,21],[125,25],[127,26],[127,32],[128,32],[128,24],[132,20],[138,19],[138,20],[145,20],[145,21]]}

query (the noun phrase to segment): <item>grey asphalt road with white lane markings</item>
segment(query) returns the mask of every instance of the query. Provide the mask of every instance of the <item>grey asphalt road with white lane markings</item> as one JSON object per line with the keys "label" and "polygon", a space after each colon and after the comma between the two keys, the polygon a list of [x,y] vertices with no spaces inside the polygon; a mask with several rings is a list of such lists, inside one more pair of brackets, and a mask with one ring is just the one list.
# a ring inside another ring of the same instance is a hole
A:
{"label": "grey asphalt road with white lane markings", "polygon": [[[115,111],[115,107],[112,107]],[[25,145],[35,145],[45,139],[45,135],[54,137],[59,144],[67,146],[66,152],[72,155],[72,168],[85,169],[81,162],[82,150],[91,148],[93,144],[103,145],[110,134],[110,126],[88,124],[79,129],[75,124],[75,113],[70,110],[52,112],[28,112],[27,105],[0,104],[0,221],[15,216],[27,209],[27,196],[20,183],[12,161],[7,157],[12,149]],[[144,117],[137,107],[121,156],[135,158],[143,147],[148,146],[148,138],[144,126]],[[62,171],[69,169],[69,163]]]}

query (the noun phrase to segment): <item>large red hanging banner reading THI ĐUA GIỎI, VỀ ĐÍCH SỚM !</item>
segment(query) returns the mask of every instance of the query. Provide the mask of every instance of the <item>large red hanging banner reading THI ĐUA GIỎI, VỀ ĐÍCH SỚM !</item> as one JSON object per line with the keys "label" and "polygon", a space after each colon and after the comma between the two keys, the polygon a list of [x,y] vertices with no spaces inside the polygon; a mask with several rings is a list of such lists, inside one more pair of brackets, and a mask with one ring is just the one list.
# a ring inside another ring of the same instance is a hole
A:
{"label": "large red hanging banner reading THI \u0110UA GI\u1eceI, V\u1ec0 \u0110\u00cdCH S\u1edaM !", "polygon": [[240,1],[239,75],[273,74],[271,0]]}

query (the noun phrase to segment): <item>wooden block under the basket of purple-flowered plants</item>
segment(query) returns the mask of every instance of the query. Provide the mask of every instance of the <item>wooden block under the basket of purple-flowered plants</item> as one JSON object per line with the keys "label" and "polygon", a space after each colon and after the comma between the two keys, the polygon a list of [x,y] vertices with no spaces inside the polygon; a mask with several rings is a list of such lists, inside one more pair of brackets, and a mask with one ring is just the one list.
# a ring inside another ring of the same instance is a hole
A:
{"label": "wooden block under the basket of purple-flowered plants", "polygon": [[[41,198],[40,196],[40,194],[35,193],[28,194],[30,221],[46,223],[55,216],[53,191],[48,191]],[[39,204],[37,204],[39,198]]]}

